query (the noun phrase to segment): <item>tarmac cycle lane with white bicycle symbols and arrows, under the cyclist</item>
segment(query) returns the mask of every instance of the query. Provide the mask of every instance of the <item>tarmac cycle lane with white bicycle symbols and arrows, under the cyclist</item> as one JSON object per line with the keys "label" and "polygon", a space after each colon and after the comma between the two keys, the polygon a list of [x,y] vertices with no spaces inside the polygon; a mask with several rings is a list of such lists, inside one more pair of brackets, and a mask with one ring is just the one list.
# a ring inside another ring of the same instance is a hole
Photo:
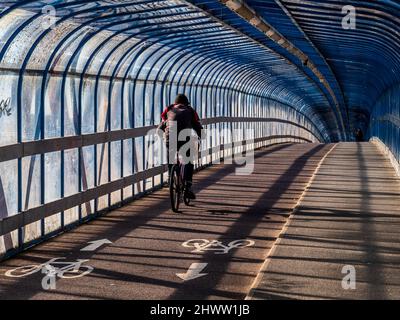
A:
{"label": "tarmac cycle lane with white bicycle symbols and arrows, under the cyclist", "polygon": [[250,176],[224,164],[196,174],[198,199],[179,214],[164,188],[50,239],[0,264],[0,299],[244,299],[332,146],[271,146]]}

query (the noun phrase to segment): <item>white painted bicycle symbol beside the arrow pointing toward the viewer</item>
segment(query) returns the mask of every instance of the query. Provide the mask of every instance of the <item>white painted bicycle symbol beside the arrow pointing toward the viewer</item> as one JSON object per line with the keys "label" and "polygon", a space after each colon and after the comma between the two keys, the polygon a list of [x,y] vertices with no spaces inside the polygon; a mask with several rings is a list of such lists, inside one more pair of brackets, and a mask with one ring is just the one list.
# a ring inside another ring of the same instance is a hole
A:
{"label": "white painted bicycle symbol beside the arrow pointing toward the viewer", "polygon": [[205,251],[215,251],[215,254],[227,254],[233,249],[251,247],[255,244],[253,240],[235,240],[227,245],[224,245],[218,240],[206,240],[206,239],[192,239],[182,243],[182,246],[186,248],[195,248],[192,253],[202,253]]}

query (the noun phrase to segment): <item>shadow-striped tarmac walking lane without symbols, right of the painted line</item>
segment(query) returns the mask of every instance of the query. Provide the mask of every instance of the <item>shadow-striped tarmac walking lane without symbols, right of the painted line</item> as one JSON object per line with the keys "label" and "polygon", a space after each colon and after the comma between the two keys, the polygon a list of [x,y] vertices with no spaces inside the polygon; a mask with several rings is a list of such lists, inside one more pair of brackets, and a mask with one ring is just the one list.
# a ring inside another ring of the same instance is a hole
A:
{"label": "shadow-striped tarmac walking lane without symbols, right of the painted line", "polygon": [[324,159],[252,299],[400,299],[400,179],[372,143]]}

